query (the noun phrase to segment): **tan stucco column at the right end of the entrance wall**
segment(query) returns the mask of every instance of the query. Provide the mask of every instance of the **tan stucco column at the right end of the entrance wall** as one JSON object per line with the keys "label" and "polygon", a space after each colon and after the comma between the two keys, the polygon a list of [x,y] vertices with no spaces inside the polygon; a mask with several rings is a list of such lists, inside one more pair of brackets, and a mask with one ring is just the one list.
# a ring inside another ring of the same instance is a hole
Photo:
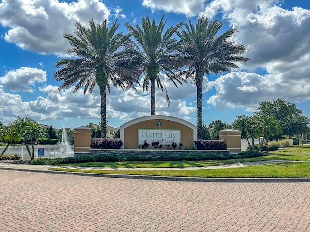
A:
{"label": "tan stucco column at the right end of the entrance wall", "polygon": [[241,152],[241,131],[227,129],[219,131],[219,139],[224,140],[227,150],[230,152]]}

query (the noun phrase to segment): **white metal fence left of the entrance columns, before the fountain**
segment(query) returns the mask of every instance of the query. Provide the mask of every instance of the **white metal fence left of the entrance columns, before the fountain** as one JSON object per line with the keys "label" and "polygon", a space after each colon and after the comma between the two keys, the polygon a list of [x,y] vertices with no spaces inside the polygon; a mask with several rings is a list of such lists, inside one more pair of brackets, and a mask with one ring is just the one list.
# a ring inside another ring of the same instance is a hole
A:
{"label": "white metal fence left of the entrance columns, before the fountain", "polygon": [[[4,149],[5,146],[0,146],[0,154],[3,152]],[[29,145],[29,149],[32,154],[31,145]],[[73,157],[74,153],[74,145],[37,145],[34,146],[34,159],[38,158],[39,149],[42,158]],[[30,159],[26,146],[9,146],[4,154],[5,155],[18,154],[22,157],[21,159]]]}

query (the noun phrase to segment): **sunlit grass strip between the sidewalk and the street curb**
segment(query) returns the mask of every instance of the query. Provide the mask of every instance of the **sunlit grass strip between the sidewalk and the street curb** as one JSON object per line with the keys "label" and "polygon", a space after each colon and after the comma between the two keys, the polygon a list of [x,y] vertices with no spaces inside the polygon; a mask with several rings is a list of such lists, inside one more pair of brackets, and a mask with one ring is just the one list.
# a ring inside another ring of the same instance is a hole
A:
{"label": "sunlit grass strip between the sidewalk and the street curb", "polygon": [[310,162],[266,164],[243,168],[208,169],[208,170],[176,170],[176,171],[108,171],[51,168],[54,171],[84,172],[98,174],[182,176],[204,178],[293,178],[310,177]]}

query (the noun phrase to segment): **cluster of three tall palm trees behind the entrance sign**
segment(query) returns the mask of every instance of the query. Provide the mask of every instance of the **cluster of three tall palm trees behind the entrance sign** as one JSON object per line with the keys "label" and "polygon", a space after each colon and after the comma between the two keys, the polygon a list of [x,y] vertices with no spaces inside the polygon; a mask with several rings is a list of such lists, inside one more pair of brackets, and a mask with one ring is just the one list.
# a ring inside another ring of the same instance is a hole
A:
{"label": "cluster of three tall palm trees behind the entrance sign", "polygon": [[[155,115],[155,88],[166,94],[168,107],[169,95],[165,81],[176,87],[191,78],[197,88],[197,138],[202,137],[202,97],[203,79],[210,73],[230,72],[238,68],[236,62],[247,62],[241,55],[247,49],[230,41],[236,29],[219,34],[224,22],[210,21],[205,16],[193,24],[183,22],[165,31],[164,15],[158,24],[148,16],[142,18],[141,25],[126,23],[129,34],[117,33],[117,19],[108,26],[108,21],[95,23],[89,27],[75,22],[74,35],[65,34],[70,42],[69,54],[74,58],[61,59],[56,63],[54,73],[57,81],[62,81],[59,90],[75,85],[74,91],[84,88],[84,93],[93,92],[99,87],[101,97],[101,137],[106,137],[106,89],[110,86],[123,90],[140,85],[143,91],[151,87],[151,115]],[[178,37],[178,39],[177,39]],[[163,79],[163,75],[165,78]]]}

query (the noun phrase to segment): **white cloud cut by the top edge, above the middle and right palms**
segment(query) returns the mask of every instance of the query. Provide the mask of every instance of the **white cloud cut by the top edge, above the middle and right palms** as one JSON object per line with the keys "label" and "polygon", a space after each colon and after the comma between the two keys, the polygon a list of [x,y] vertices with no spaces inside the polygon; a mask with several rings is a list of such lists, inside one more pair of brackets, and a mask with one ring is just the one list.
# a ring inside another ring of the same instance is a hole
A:
{"label": "white cloud cut by the top edge, above the middle and right palms", "polygon": [[196,16],[203,11],[203,3],[206,0],[143,0],[142,5],[151,8],[152,11],[164,10],[186,16]]}

